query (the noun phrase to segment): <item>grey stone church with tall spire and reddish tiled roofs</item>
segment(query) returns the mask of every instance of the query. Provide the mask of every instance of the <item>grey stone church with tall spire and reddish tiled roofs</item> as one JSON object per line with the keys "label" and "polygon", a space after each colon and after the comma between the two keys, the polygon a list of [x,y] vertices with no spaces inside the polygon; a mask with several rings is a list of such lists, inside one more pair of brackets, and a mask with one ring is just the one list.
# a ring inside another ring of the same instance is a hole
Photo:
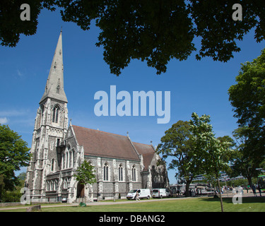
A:
{"label": "grey stone church with tall spire and reddish tiled roofs", "polygon": [[[125,197],[131,189],[167,188],[166,166],[157,164],[152,144],[69,124],[61,36],[35,118],[25,181],[31,200],[73,203],[79,197],[93,201]],[[95,184],[73,177],[85,160],[95,167]]]}

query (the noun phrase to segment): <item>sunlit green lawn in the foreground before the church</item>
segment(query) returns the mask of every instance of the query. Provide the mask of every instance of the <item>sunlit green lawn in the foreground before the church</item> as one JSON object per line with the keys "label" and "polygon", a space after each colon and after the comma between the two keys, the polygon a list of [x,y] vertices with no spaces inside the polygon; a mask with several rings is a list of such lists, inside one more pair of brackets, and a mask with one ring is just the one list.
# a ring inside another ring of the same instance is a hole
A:
{"label": "sunlit green lawn in the foreground before the church", "polygon": [[[43,205],[45,206],[45,205]],[[265,198],[243,198],[242,204],[233,204],[232,198],[223,198],[225,212],[265,212]],[[25,212],[25,209],[1,210]],[[218,198],[184,198],[179,200],[165,199],[155,202],[132,201],[126,204],[107,206],[61,206],[42,208],[42,212],[218,212]]]}

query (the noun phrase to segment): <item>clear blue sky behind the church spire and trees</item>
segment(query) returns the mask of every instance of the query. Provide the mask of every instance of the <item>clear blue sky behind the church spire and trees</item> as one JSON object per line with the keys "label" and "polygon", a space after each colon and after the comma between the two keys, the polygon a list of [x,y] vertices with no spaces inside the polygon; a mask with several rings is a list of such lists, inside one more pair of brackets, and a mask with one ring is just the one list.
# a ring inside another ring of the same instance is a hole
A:
{"label": "clear blue sky behind the church spire and trees", "polygon": [[[153,141],[153,145],[160,143],[172,124],[191,119],[192,112],[210,115],[216,136],[232,136],[237,120],[228,100],[228,88],[235,84],[240,63],[257,58],[265,44],[255,42],[252,31],[237,42],[241,52],[227,63],[210,58],[196,61],[193,52],[187,61],[170,61],[167,72],[160,76],[146,62],[131,61],[117,77],[103,61],[102,47],[95,46],[98,28],[92,26],[83,31],[75,23],[64,23],[59,11],[42,11],[35,35],[21,36],[15,48],[0,47],[0,123],[17,131],[29,147],[61,26],[64,90],[72,124],[124,136],[128,131],[132,141],[147,144]],[[199,40],[194,43],[199,49]],[[94,100],[94,95],[104,90],[110,97],[110,85],[116,85],[117,93],[126,90],[131,97],[133,91],[170,91],[170,121],[157,124],[158,116],[95,116],[98,100]],[[175,171],[169,170],[168,174],[170,183],[175,183]]]}

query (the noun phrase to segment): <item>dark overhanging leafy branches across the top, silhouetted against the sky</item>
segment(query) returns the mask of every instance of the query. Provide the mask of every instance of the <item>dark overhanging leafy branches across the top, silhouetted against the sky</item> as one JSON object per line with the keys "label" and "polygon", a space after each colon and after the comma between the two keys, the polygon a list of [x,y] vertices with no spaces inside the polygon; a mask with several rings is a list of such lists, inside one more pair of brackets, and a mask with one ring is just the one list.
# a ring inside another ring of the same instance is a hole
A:
{"label": "dark overhanging leafy branches across the top, silhouetted against the sky", "polygon": [[[30,20],[20,20],[20,5],[29,4]],[[242,5],[242,20],[233,20],[233,4]],[[146,61],[165,73],[170,59],[186,60],[198,47],[196,59],[211,57],[228,61],[240,52],[236,41],[255,28],[257,42],[264,40],[264,0],[26,0],[0,2],[0,42],[14,47],[20,34],[37,31],[37,16],[43,8],[59,8],[64,21],[89,30],[92,20],[100,28],[96,45],[111,73],[119,76],[133,59]]]}

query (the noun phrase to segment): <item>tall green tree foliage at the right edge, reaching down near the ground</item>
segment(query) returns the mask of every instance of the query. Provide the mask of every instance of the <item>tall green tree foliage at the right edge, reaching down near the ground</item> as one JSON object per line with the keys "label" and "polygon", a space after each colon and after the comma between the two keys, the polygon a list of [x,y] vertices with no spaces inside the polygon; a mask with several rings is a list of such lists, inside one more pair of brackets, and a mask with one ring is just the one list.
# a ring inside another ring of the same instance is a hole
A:
{"label": "tall green tree foliage at the right edge, reaching down near the ground", "polygon": [[265,159],[265,49],[257,59],[241,64],[236,82],[228,90],[239,125],[233,132],[239,155],[232,169],[251,185],[252,177],[258,176],[257,168],[262,167]]}

